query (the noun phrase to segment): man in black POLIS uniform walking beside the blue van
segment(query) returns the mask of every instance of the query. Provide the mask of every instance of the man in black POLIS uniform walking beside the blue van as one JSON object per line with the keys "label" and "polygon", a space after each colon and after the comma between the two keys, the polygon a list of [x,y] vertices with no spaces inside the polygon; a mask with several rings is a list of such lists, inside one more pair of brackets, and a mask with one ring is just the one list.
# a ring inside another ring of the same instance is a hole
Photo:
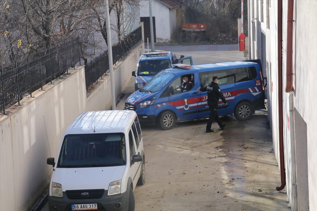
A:
{"label": "man in black POLIS uniform walking beside the blue van", "polygon": [[211,124],[214,120],[217,121],[219,127],[223,130],[224,127],[226,126],[226,123],[222,123],[219,119],[218,116],[218,101],[219,98],[227,105],[227,101],[224,98],[219,86],[218,86],[218,77],[213,76],[212,77],[212,82],[208,84],[206,87],[203,88],[198,88],[197,91],[207,91],[208,95],[208,107],[210,109],[210,115],[209,115],[209,120],[207,122],[206,126],[206,133],[212,133],[214,130],[211,129]]}

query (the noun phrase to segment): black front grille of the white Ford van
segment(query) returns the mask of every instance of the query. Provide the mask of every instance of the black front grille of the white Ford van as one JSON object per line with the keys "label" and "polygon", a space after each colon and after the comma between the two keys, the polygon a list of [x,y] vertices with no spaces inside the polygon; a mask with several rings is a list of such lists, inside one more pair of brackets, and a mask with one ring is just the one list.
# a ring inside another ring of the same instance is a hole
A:
{"label": "black front grille of the white Ford van", "polygon": [[105,189],[66,190],[68,199],[100,199]]}

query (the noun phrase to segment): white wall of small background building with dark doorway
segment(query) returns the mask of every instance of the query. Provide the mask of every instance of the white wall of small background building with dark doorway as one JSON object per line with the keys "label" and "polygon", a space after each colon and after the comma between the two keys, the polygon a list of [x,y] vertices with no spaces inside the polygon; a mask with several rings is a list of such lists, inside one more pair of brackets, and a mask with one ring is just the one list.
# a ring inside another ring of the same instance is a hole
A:
{"label": "white wall of small background building with dark doorway", "polygon": [[[152,16],[155,17],[156,42],[170,43],[170,9],[160,3],[160,1],[152,1]],[[148,1],[140,1],[140,17],[150,17]],[[174,19],[176,23],[176,11]]]}

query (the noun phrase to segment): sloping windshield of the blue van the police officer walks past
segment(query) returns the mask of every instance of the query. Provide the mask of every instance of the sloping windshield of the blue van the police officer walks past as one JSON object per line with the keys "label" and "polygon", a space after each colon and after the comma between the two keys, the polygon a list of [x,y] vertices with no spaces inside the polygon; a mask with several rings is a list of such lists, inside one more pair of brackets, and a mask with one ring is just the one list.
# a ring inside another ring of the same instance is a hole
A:
{"label": "sloping windshield of the blue van the police officer walks past", "polygon": [[176,74],[171,72],[161,71],[159,74],[154,76],[145,86],[140,89],[140,92],[153,93],[163,89],[163,87],[174,78]]}

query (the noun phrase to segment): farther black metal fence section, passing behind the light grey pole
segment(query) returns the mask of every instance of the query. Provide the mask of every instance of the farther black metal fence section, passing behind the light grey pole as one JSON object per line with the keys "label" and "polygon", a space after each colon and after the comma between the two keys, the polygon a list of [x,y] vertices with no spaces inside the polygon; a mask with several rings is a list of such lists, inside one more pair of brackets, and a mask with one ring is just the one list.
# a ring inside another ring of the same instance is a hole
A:
{"label": "farther black metal fence section, passing behind the light grey pole", "polygon": [[[135,29],[129,35],[125,36],[120,42],[112,46],[112,61],[115,64],[125,54],[130,52],[131,48],[134,48],[142,40],[141,27]],[[98,83],[98,79],[102,78],[103,74],[109,71],[109,57],[108,51],[104,51],[98,57],[91,60],[85,66],[85,78],[87,92],[89,87],[95,82]]]}

